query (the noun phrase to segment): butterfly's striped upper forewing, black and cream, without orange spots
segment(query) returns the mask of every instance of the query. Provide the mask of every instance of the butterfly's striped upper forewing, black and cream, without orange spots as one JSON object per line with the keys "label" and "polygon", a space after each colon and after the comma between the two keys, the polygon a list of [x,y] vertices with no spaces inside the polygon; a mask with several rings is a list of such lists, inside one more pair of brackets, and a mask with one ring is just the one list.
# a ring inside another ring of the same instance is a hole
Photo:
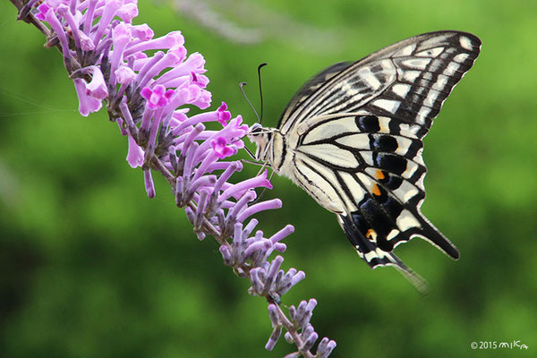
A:
{"label": "butterfly's striped upper forewing, black and cream, without orange spots", "polygon": [[431,32],[385,47],[330,76],[308,98],[297,93],[295,98],[302,100],[291,101],[278,128],[286,133],[313,116],[359,109],[430,126],[480,47],[479,38],[456,31]]}

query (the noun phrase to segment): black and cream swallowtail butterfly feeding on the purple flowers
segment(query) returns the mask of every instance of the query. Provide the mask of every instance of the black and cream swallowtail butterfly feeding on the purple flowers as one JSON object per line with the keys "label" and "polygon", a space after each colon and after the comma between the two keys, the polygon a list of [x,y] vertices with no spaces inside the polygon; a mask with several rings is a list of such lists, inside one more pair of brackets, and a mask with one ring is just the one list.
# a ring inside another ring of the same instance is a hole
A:
{"label": "black and cream swallowtail butterfly feeding on the purple flowers", "polygon": [[335,213],[371,268],[395,266],[419,288],[393,250],[417,236],[459,258],[420,210],[422,139],[480,49],[473,34],[436,31],[334,64],[294,95],[277,128],[251,126],[255,158]]}

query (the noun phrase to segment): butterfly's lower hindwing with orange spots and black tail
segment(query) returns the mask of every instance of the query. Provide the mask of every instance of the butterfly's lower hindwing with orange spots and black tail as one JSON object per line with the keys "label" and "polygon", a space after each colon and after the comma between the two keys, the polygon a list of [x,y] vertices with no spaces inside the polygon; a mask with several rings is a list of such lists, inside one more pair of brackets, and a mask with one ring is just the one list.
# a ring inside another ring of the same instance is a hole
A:
{"label": "butterfly's lower hindwing with orange spots and black tail", "polygon": [[296,149],[301,186],[314,188],[321,205],[345,217],[340,222],[347,235],[352,228],[359,232],[349,239],[371,267],[394,264],[388,253],[415,235],[458,257],[419,211],[426,173],[420,131],[396,118],[334,115],[310,121]]}

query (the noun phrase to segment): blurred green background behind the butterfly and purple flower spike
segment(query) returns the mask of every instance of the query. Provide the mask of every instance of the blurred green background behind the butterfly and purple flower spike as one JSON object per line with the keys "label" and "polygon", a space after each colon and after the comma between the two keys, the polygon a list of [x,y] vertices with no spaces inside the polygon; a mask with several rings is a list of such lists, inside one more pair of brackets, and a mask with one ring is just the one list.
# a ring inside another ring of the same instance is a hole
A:
{"label": "blurred green background behind the butterfly and purple flower spike", "polygon": [[[425,140],[424,214],[461,251],[449,260],[415,239],[399,256],[425,277],[421,296],[393,268],[371,271],[335,217],[286,178],[267,234],[292,223],[286,268],[306,279],[284,303],[315,297],[312,323],[334,357],[520,357],[537,350],[537,2],[141,0],[135,23],[182,30],[207,60],[214,107],[225,100],[265,124],[325,66],[431,30],[466,30],[482,55]],[[106,113],[82,118],[72,82],[38,30],[0,4],[0,355],[4,357],[277,357],[265,351],[267,304],[199,242],[166,183],[146,197],[141,170]],[[209,21],[208,21],[209,19]],[[204,23],[209,23],[209,27]],[[213,108],[214,108],[213,107]],[[257,167],[245,169],[253,174]],[[520,340],[527,351],[477,350]]]}

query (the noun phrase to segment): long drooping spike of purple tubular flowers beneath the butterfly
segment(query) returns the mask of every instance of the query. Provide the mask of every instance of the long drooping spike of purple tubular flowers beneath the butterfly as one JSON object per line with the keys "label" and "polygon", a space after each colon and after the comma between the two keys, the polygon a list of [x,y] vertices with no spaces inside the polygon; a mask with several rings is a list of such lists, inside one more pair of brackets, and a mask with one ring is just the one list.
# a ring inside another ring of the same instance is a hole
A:
{"label": "long drooping spike of purple tubular flowers beneath the butterfly", "polygon": [[225,159],[244,147],[248,125],[240,115],[232,119],[224,102],[216,110],[187,115],[185,106],[206,109],[211,102],[203,56],[188,55],[179,31],[154,38],[148,25],[132,25],[136,0],[12,1],[20,18],[45,21],[51,28],[48,45],[62,51],[81,115],[106,103],[110,120],[128,138],[127,162],[141,166],[149,197],[156,194],[152,173],[159,172],[198,238],[214,236],[226,265],[251,280],[251,294],[267,298],[274,328],[267,349],[285,327],[287,341],[298,347],[295,354],[328,356],[336,345],[328,338],[321,340],[316,355],[310,352],[318,337],[309,323],[315,300],[296,310],[292,306],[290,319],[278,305],[282,294],[305,277],[294,268],[280,269],[281,256],[269,261],[273,251],[286,250],[280,241],[293,233],[293,226],[268,238],[262,231],[251,237],[258,224],[251,216],[282,205],[281,200],[255,202],[256,188],[271,188],[267,172],[229,181],[243,165]]}

